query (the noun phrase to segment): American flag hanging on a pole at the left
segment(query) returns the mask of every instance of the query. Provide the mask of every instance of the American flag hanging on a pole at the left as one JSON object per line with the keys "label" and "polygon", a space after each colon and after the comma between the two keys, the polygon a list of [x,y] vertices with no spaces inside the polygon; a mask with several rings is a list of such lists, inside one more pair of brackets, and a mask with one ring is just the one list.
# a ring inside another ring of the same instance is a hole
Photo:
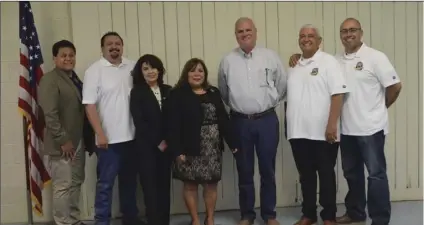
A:
{"label": "American flag hanging on a pole at the left", "polygon": [[19,39],[20,62],[22,72],[19,76],[18,107],[27,125],[29,186],[31,189],[32,207],[43,214],[42,190],[51,180],[46,167],[46,160],[40,154],[43,147],[44,124],[39,119],[37,87],[43,76],[43,56],[35,28],[34,16],[29,2],[19,2]]}

